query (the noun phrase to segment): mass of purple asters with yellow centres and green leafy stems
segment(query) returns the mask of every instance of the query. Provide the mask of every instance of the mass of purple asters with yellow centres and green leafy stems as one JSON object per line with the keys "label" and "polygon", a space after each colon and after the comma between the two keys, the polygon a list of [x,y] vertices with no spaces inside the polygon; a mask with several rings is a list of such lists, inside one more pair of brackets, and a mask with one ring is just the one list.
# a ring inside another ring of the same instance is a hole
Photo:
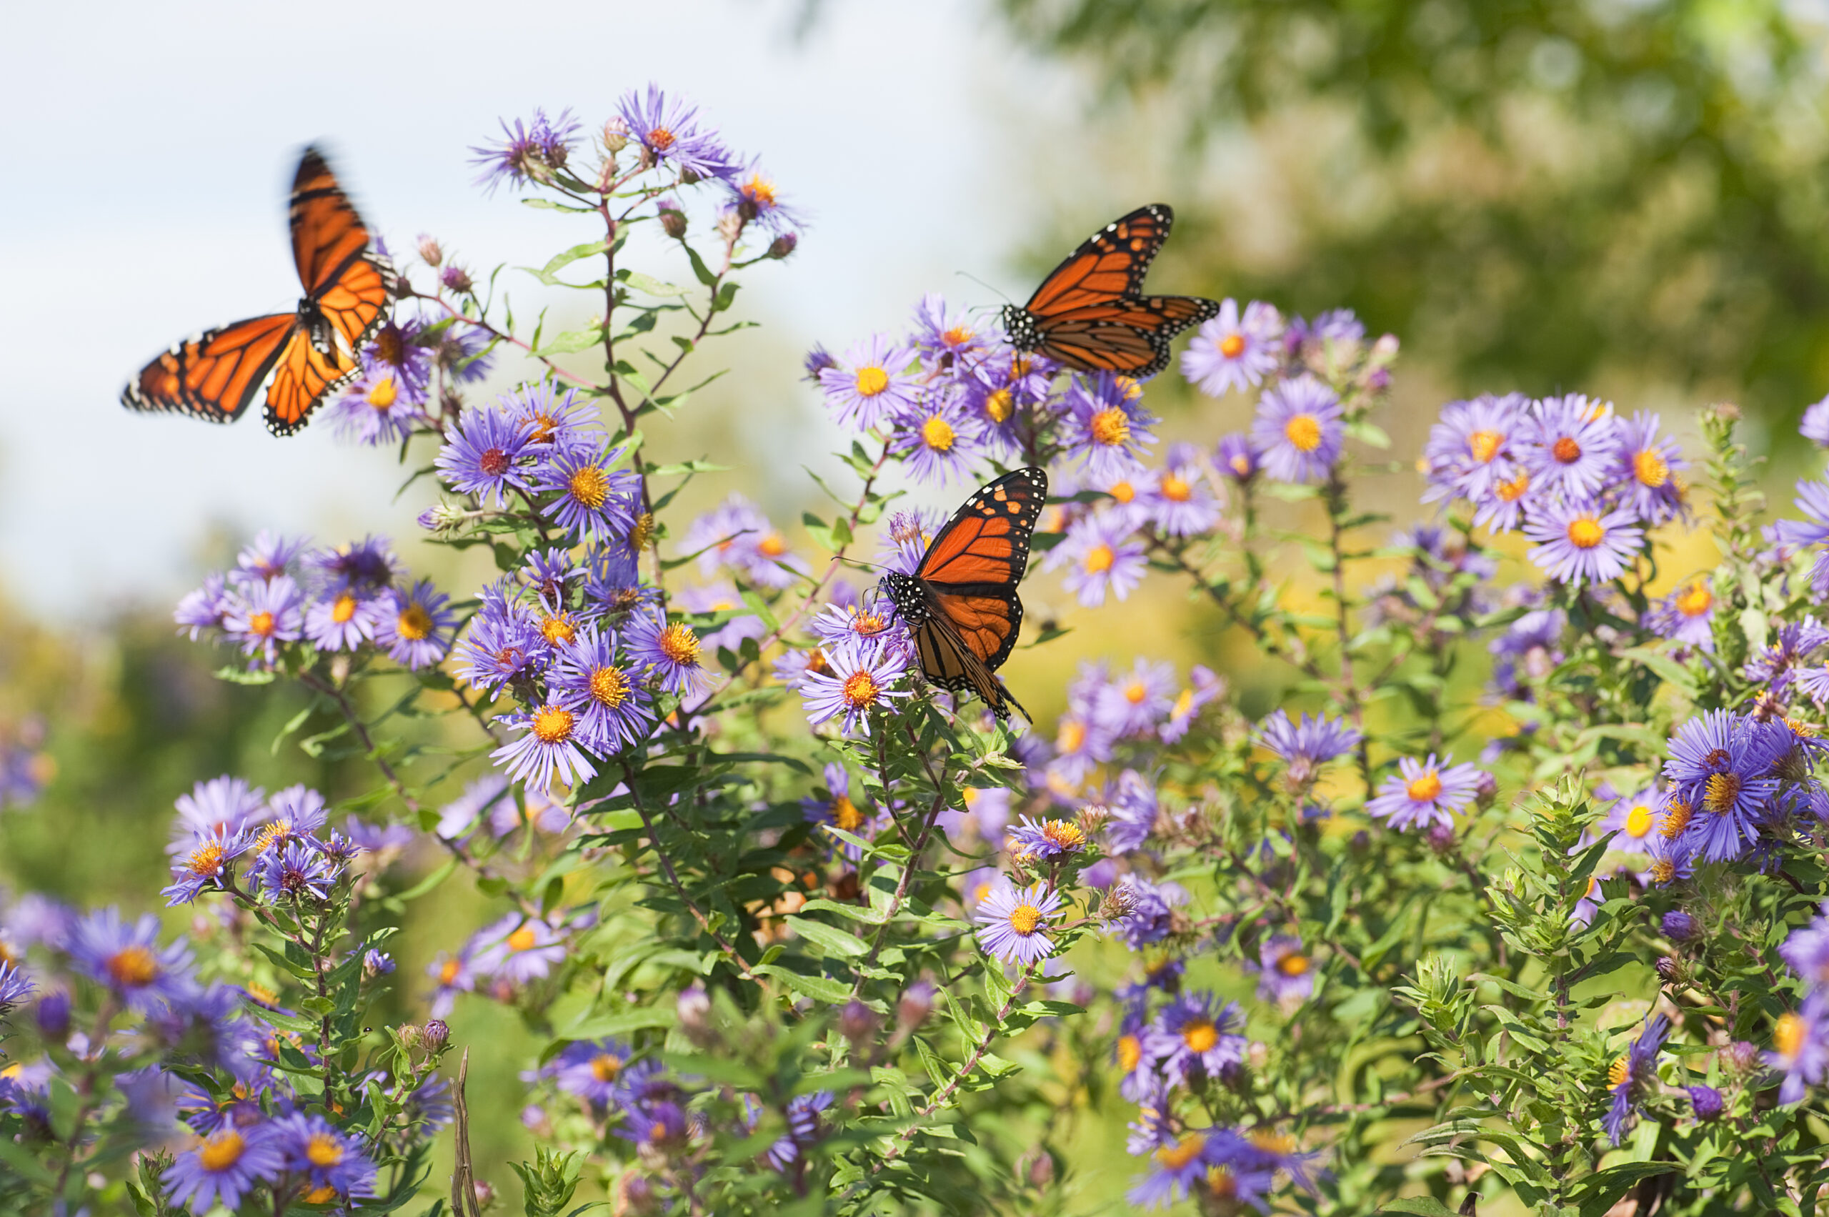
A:
{"label": "mass of purple asters with yellow centres and green leafy stems", "polygon": [[[1761,527],[1732,406],[1686,456],[1481,395],[1394,463],[1397,342],[1350,313],[1227,300],[1158,386],[925,296],[805,362],[834,507],[682,518],[721,470],[644,421],[750,324],[790,192],[657,86],[476,157],[578,227],[532,276],[600,313],[529,324],[417,242],[337,417],[439,487],[422,534],[263,533],[176,609],[221,679],[302,686],[276,747],[351,785],[174,791],[188,932],[7,899],[0,1210],[476,1217],[508,1180],[452,1063],[496,1005],[543,1045],[534,1217],[1814,1212],[1829,487]],[[1160,584],[1240,646],[1028,668],[1033,725],[929,683],[863,564],[942,525],[904,487],[1021,465],[1032,595]],[[1397,533],[1374,478],[1414,479]],[[428,547],[494,571],[441,587]],[[457,882],[483,913],[397,966]],[[369,1021],[388,988],[424,1018]]]}

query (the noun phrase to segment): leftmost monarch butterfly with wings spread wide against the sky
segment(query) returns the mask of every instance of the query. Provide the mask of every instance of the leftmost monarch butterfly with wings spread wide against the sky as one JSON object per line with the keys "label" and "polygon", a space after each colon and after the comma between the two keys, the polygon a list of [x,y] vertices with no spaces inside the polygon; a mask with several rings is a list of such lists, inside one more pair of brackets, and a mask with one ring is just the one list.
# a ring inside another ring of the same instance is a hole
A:
{"label": "leftmost monarch butterfly with wings spread wide against the sky", "polygon": [[316,148],[298,159],[291,225],[305,287],[298,309],[179,342],[128,381],[123,406],[232,423],[265,384],[267,430],[291,436],[326,393],[355,379],[355,353],[386,318],[395,278]]}

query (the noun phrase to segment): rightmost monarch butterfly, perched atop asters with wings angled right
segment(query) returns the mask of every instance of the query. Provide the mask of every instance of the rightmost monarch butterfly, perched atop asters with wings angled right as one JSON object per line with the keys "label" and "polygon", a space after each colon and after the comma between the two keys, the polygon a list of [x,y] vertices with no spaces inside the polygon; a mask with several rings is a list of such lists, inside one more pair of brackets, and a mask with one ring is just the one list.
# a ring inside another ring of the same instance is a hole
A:
{"label": "rightmost monarch butterfly, perched atop asters with wings angled right", "polygon": [[1200,296],[1143,295],[1143,276],[1172,223],[1167,203],[1149,203],[1088,236],[1026,306],[1004,306],[1010,344],[1079,372],[1138,381],[1161,372],[1169,340],[1220,311]]}

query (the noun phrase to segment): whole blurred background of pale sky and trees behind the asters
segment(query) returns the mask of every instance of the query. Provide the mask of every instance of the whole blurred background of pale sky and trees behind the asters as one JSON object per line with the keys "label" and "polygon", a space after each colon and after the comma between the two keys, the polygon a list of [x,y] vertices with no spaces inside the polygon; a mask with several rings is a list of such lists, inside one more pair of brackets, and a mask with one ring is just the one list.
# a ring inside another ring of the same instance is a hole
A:
{"label": "whole blurred background of pale sky and trees behind the asters", "polygon": [[[433,234],[472,267],[510,267],[519,315],[552,306],[582,324],[580,306],[512,267],[587,236],[477,188],[470,146],[534,106],[594,124],[647,81],[695,99],[808,223],[790,260],[746,280],[737,313],[759,328],[726,348],[737,375],[660,443],[668,459],[732,465],[721,489],[783,522],[814,501],[801,465],[823,468],[838,439],[799,381],[807,346],[896,328],[924,291],[1021,298],[1110,216],[1169,201],[1180,221],[1152,285],[1286,313],[1348,306],[1403,339],[1383,419],[1397,468],[1374,503],[1403,520],[1441,401],[1485,390],[1611,397],[1661,412],[1692,447],[1694,412],[1732,399],[1772,450],[1774,485],[1798,467],[1798,445],[1774,437],[1829,390],[1824,20],[1802,0],[11,13],[0,738],[42,723],[55,776],[31,811],[0,814],[0,878],[146,904],[170,802],[194,780],[335,785],[269,749],[296,705],[212,681],[210,657],[172,637],[176,597],[254,531],[386,531],[415,565],[461,575],[413,553],[424,503],[395,500],[390,452],[327,426],[280,441],[258,419],[218,428],[117,404],[174,339],[293,306],[283,190],[307,141],[333,152],[402,260]],[[499,384],[516,372],[501,366]],[[1244,423],[1236,401],[1169,381],[1152,393],[1167,436],[1211,443]],[[1670,573],[1706,562],[1679,547]],[[1035,580],[1028,598],[1074,630],[1008,670],[1044,725],[1063,672],[1090,655],[1200,659],[1262,705],[1280,697],[1282,673],[1171,589],[1079,611]],[[413,959],[401,975],[412,1001]],[[459,1034],[508,1034],[474,1018]],[[479,1085],[508,1096],[516,1067]],[[519,1136],[487,1124],[483,1157],[525,1153]]]}

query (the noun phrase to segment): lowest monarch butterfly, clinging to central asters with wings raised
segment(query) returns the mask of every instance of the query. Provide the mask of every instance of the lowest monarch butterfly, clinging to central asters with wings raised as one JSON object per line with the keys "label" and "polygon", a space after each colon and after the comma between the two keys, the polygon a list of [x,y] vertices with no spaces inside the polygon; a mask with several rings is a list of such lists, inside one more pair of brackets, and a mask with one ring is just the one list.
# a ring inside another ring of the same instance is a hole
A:
{"label": "lowest monarch butterfly, clinging to central asters with wings raised", "polygon": [[1022,628],[1017,584],[1046,500],[1048,470],[1030,465],[1004,474],[953,512],[913,575],[882,578],[927,679],[955,694],[975,692],[999,719],[1015,706],[1033,721],[991,673],[1010,659]]}

